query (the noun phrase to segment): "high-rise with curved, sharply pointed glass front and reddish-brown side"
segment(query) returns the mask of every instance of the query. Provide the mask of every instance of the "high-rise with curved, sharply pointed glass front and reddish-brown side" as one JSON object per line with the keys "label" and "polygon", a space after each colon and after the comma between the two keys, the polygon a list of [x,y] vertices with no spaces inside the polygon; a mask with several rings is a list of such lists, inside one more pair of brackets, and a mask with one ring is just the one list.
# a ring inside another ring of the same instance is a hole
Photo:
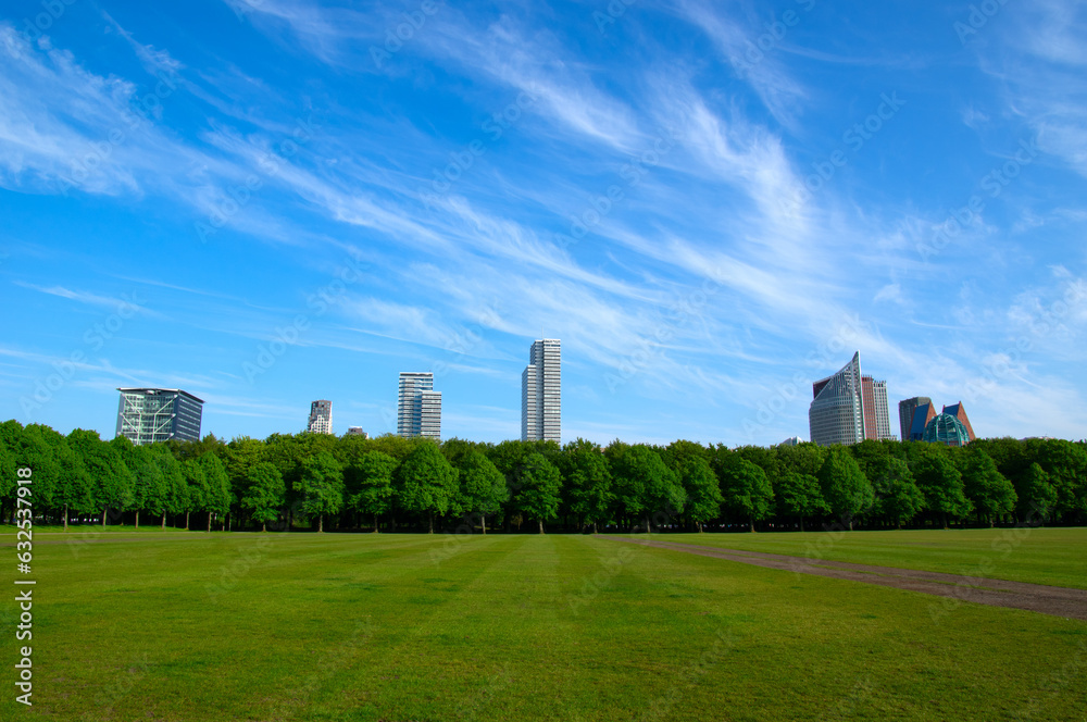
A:
{"label": "high-rise with curved, sharply pointed glass front and reddish-brown side", "polygon": [[812,441],[859,444],[866,438],[894,438],[887,409],[887,382],[861,374],[861,354],[838,373],[812,384],[808,422]]}

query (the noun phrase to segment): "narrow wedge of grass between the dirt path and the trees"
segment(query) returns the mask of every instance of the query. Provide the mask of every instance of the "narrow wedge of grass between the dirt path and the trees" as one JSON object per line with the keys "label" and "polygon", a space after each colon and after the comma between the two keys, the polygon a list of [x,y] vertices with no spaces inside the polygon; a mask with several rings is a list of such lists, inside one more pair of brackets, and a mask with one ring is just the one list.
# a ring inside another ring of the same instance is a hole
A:
{"label": "narrow wedge of grass between the dirt path and the trees", "polygon": [[[653,538],[1087,589],[1087,528],[1084,527],[654,534]],[[979,569],[989,572],[979,574]]]}

